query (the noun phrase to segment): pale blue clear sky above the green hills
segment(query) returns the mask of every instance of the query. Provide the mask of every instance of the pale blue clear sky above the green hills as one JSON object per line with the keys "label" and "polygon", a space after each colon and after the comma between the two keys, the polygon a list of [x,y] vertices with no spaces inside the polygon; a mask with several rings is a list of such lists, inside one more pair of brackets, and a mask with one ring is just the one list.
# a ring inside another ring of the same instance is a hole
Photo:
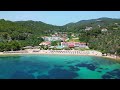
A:
{"label": "pale blue clear sky above the green hills", "polygon": [[101,17],[120,18],[120,11],[0,11],[0,19],[42,21],[58,26]]}

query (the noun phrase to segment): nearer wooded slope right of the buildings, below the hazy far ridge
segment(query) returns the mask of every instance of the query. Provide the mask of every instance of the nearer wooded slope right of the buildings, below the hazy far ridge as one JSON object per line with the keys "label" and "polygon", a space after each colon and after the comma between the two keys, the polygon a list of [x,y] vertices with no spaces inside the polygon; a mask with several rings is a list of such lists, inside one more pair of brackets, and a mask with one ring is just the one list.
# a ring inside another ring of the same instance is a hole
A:
{"label": "nearer wooded slope right of the buildings, below the hazy far ridge", "polygon": [[120,55],[120,20],[116,22],[117,25],[115,22],[106,21],[107,31],[101,31],[103,26],[94,27],[89,31],[81,31],[79,39],[86,42],[90,49],[99,50],[105,54]]}

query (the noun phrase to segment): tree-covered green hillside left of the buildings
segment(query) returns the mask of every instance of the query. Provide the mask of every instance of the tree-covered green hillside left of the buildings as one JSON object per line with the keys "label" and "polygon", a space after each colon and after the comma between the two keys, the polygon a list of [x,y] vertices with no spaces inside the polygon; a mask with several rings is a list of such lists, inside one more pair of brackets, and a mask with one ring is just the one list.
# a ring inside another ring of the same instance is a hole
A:
{"label": "tree-covered green hillside left of the buildings", "polygon": [[[0,51],[19,50],[24,46],[37,46],[43,41],[42,36],[60,31],[59,26],[53,26],[38,21],[6,21],[0,20]],[[61,29],[64,30],[64,29]],[[19,43],[19,48],[11,44]],[[12,47],[16,49],[12,49]]]}

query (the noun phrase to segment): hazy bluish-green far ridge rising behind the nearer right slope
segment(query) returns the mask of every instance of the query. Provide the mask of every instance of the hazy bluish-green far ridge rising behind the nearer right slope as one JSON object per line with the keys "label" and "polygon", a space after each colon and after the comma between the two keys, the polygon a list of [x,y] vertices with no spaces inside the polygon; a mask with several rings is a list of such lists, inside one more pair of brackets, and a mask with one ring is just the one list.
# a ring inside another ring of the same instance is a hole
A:
{"label": "hazy bluish-green far ridge rising behind the nearer right slope", "polygon": [[85,29],[86,27],[97,28],[100,26],[101,28],[109,28],[112,27],[115,23],[120,25],[120,19],[102,17],[98,19],[81,20],[76,23],[66,24],[64,26],[67,27],[67,31],[75,32]]}

